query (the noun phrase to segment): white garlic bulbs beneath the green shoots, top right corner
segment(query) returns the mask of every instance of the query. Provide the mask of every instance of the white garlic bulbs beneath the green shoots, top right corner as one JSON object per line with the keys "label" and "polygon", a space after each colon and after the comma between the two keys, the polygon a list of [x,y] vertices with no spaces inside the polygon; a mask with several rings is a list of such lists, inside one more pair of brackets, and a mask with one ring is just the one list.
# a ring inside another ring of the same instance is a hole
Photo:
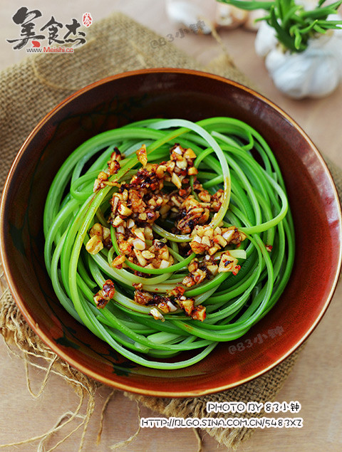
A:
{"label": "white garlic bulbs beneath the green shoots, top right corner", "polygon": [[342,80],[342,30],[311,38],[305,51],[291,53],[281,47],[274,28],[263,22],[255,49],[266,57],[265,65],[276,88],[290,98],[323,97]]}

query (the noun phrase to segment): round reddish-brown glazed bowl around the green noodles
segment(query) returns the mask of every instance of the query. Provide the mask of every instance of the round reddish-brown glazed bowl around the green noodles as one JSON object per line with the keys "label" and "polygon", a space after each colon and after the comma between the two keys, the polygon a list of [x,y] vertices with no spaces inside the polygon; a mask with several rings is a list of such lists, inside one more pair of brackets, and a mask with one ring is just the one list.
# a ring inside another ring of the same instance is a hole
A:
{"label": "round reddish-brown glazed bowl around the green noodles", "polygon": [[[269,142],[284,174],[296,260],[274,308],[233,342],[185,369],[141,367],[78,324],[59,304],[43,261],[43,206],[63,161],[79,144],[148,117],[197,121],[233,116]],[[1,258],[9,288],[33,330],[73,367],[104,384],[152,396],[198,396],[248,382],[301,345],[323,316],[341,263],[341,211],[326,164],[279,107],[225,78],[192,70],[138,70],[105,78],[56,106],[21,147],[1,203]]]}

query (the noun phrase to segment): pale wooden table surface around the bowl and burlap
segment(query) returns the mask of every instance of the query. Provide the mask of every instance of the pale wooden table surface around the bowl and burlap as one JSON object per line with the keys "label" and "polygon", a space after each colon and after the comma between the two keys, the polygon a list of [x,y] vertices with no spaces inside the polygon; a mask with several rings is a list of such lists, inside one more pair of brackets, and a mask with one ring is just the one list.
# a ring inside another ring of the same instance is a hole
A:
{"label": "pale wooden table surface around the bowl and burlap", "polygon": [[[214,0],[206,0],[214,4]],[[200,3],[200,2],[199,2]],[[204,3],[204,1],[202,1]],[[1,0],[0,17],[0,69],[20,61],[26,56],[24,51],[13,51],[6,43],[16,33],[16,26],[11,16],[23,6],[23,2]],[[54,15],[63,20],[81,17],[89,11],[93,19],[101,19],[110,12],[120,10],[155,29],[160,35],[175,33],[177,26],[172,25],[165,15],[164,1],[153,0],[112,0],[107,2],[60,0],[47,4],[43,0],[31,0],[30,8],[40,9],[44,16]],[[279,93],[272,84],[264,68],[263,61],[254,52],[254,33],[238,29],[220,33],[227,51],[234,63],[246,73],[262,93],[282,107],[296,120],[311,137],[319,149],[342,167],[341,139],[341,105],[342,85],[335,93],[320,100],[290,100]],[[211,36],[190,36],[175,39],[175,46],[182,48],[189,55],[207,64],[219,55],[220,48]],[[304,282],[305,283],[305,282]],[[243,443],[237,451],[342,451],[342,286],[339,285],[326,315],[311,335],[306,348],[301,353],[293,372],[286,380],[277,396],[277,401],[298,400],[301,402],[301,414],[304,418],[302,429],[259,429],[252,438]],[[33,391],[38,391],[43,381],[44,372],[30,369],[29,377]],[[78,397],[68,384],[51,375],[45,391],[38,399],[33,399],[26,387],[24,363],[7,351],[4,341],[0,340],[0,444],[21,441],[31,436],[40,435],[56,423],[66,411],[73,411],[78,404]],[[95,413],[88,427],[83,451],[110,451],[110,446],[123,441],[135,433],[138,427],[137,406],[120,391],[115,392],[108,405],[103,425],[102,440],[95,446],[95,439],[100,421],[100,411],[110,389],[102,387],[96,394]],[[142,407],[141,416],[153,416],[152,411]],[[76,424],[73,424],[73,427]],[[70,431],[70,430],[69,430]],[[63,438],[63,432],[57,433],[46,444],[46,450]],[[73,452],[78,450],[81,432],[76,432],[58,446],[56,451]],[[206,433],[202,434],[203,451],[225,451],[224,446]],[[15,448],[18,451],[34,451],[37,442]],[[196,451],[197,438],[191,429],[143,429],[128,446],[126,451],[182,452]],[[14,450],[14,446],[5,450]],[[41,449],[43,450],[43,449]]]}

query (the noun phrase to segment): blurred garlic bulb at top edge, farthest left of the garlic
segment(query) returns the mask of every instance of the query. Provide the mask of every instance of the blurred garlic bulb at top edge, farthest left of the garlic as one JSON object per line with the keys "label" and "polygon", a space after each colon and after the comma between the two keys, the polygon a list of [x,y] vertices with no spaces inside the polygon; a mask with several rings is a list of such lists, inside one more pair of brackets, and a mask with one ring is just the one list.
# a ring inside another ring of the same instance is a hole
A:
{"label": "blurred garlic bulb at top edge, farthest left of the garlic", "polygon": [[192,28],[195,32],[211,33],[210,24],[204,21],[204,11],[197,4],[187,0],[166,0],[165,6],[170,21]]}

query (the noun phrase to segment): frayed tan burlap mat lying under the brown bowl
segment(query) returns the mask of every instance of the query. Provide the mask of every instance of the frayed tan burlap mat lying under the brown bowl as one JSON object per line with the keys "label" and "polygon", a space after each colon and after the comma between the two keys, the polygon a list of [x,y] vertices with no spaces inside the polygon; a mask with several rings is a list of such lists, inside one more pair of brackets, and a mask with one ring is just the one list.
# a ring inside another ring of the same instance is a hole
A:
{"label": "frayed tan burlap mat lying under the brown bowl", "polygon": [[[207,68],[167,43],[152,49],[150,42],[159,38],[123,14],[113,14],[95,23],[87,31],[88,42],[73,55],[41,54],[26,58],[18,65],[7,68],[0,78],[0,184],[9,171],[11,162],[21,144],[38,120],[56,104],[74,91],[95,80],[125,70],[153,67],[192,68],[209,70],[245,85],[249,80],[229,62],[227,56],[219,58]],[[38,101],[37,101],[38,100]],[[339,169],[330,165],[342,193]],[[93,411],[94,394],[98,383],[71,368],[51,352],[35,335],[21,316],[8,290],[1,299],[0,331],[7,344],[15,344],[24,357],[38,356],[46,360],[48,369],[58,372],[74,385],[81,397],[88,397],[88,414],[83,419],[87,426]],[[274,400],[289,376],[300,350],[262,377],[235,389],[219,394],[186,399],[165,399],[125,394],[138,399],[145,406],[164,416],[204,417],[207,401],[259,401]],[[263,413],[260,414],[261,416]],[[213,414],[213,416],[216,416]],[[248,414],[244,413],[244,417]],[[250,416],[256,416],[251,414]],[[48,437],[47,433],[46,438]],[[228,447],[237,446],[252,433],[250,429],[208,429],[209,435]],[[43,438],[41,436],[40,438]],[[39,439],[39,438],[36,438]]]}

